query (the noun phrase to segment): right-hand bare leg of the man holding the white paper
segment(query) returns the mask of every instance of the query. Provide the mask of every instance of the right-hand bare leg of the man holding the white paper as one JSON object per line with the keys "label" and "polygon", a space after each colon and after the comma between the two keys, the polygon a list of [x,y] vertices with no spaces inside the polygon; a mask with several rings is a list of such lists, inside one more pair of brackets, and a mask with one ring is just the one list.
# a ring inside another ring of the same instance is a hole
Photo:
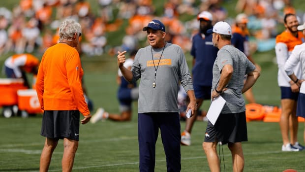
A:
{"label": "right-hand bare leg of the man holding the white paper", "polygon": [[241,142],[228,143],[228,147],[232,154],[233,172],[244,171],[244,153]]}

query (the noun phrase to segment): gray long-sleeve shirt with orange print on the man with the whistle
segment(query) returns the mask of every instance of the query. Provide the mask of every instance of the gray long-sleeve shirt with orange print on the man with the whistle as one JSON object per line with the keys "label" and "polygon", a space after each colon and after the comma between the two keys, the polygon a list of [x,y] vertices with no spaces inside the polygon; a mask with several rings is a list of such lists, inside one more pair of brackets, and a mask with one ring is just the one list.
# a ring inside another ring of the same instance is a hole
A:
{"label": "gray long-sleeve shirt with orange print on the man with the whistle", "polygon": [[[138,113],[178,112],[179,81],[186,92],[193,90],[192,79],[181,47],[166,43],[163,54],[162,50],[163,47],[155,49],[149,45],[141,48],[136,54],[131,71],[133,81],[141,78]],[[157,69],[156,86],[153,88],[155,69]]]}

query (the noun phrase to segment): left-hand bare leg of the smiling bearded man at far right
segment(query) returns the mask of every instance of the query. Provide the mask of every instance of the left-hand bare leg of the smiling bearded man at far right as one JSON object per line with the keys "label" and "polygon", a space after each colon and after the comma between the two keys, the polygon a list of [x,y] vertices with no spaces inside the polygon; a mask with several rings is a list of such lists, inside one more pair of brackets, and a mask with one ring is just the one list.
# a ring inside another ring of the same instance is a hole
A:
{"label": "left-hand bare leg of the smiling bearded man at far right", "polygon": [[281,107],[282,107],[282,113],[279,121],[279,126],[282,134],[283,144],[286,145],[289,142],[289,116],[292,113],[293,104],[295,101],[290,99],[282,99],[281,100]]}

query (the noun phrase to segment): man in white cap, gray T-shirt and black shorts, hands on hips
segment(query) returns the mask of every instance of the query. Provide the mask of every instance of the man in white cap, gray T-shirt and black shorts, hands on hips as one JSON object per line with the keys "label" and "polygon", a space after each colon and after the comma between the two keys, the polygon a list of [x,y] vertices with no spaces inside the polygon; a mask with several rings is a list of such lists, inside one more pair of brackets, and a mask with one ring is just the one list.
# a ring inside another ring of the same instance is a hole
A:
{"label": "man in white cap, gray T-shirt and black shorts, hands on hips", "polygon": [[[260,72],[244,53],[231,45],[232,30],[228,23],[217,22],[213,30],[213,45],[219,49],[213,66],[211,99],[221,96],[225,101],[216,123],[208,122],[203,149],[211,172],[220,172],[217,142],[228,144],[232,154],[233,172],[243,172],[242,141],[247,141],[243,93],[251,88]],[[244,75],[247,78],[244,82]]]}

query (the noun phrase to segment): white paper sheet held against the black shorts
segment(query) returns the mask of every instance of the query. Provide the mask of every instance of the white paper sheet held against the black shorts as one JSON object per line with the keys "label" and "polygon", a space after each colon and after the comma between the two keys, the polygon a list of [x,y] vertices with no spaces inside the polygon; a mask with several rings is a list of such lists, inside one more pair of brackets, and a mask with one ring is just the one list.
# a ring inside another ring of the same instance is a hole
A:
{"label": "white paper sheet held against the black shorts", "polygon": [[207,113],[207,118],[213,125],[215,125],[217,118],[225,103],[226,101],[221,96],[214,98],[214,100],[212,101]]}

